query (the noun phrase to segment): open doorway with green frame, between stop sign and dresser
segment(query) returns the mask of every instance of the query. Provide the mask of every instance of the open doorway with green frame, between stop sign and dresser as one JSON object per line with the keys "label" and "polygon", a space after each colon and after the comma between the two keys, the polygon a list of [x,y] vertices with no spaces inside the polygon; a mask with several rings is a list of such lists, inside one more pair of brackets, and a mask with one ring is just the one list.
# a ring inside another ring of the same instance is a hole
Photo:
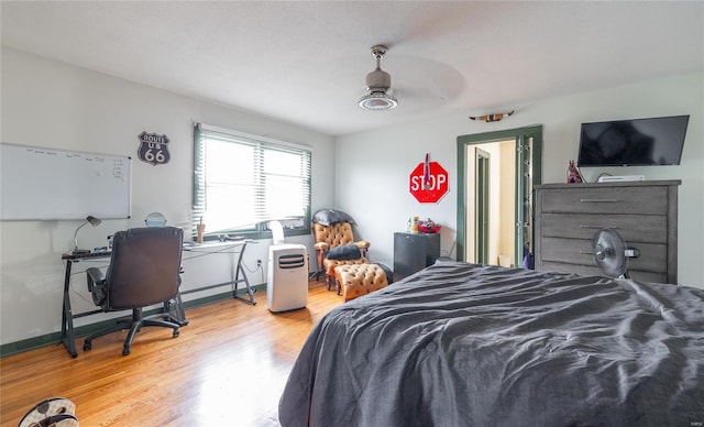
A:
{"label": "open doorway with green frame, between stop sign and dresser", "polygon": [[540,125],[458,136],[458,260],[529,262],[541,151]]}

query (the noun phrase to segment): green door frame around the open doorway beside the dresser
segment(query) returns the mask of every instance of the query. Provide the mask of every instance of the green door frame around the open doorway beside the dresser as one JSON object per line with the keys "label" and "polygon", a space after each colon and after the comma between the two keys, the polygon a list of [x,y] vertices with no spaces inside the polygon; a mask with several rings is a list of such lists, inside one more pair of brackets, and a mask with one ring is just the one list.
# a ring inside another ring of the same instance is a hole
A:
{"label": "green door frame around the open doorway beside the dresser", "polygon": [[[526,241],[532,242],[532,190],[542,183],[542,125],[508,129],[495,132],[475,133],[458,136],[458,217],[457,217],[457,260],[464,260],[464,239],[466,237],[466,146],[498,142],[516,141],[516,265],[522,260],[522,248]],[[529,230],[527,230],[529,229]],[[529,231],[526,233],[526,231]]]}

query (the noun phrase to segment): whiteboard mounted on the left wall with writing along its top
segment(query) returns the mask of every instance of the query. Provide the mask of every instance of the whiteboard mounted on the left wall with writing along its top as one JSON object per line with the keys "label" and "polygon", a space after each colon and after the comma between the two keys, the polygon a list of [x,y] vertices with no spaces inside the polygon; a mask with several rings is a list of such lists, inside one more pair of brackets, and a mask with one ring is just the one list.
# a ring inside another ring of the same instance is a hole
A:
{"label": "whiteboard mounted on the left wall with writing along its top", "polygon": [[130,218],[129,156],[0,144],[0,219]]}

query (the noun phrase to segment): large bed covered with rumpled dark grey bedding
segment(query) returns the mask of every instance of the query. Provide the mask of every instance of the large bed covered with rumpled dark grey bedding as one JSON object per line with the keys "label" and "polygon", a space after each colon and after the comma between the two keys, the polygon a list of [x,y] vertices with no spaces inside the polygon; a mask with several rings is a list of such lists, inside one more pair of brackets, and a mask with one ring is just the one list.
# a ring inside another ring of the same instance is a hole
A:
{"label": "large bed covered with rumpled dark grey bedding", "polygon": [[441,262],[314,328],[289,426],[702,426],[704,289]]}

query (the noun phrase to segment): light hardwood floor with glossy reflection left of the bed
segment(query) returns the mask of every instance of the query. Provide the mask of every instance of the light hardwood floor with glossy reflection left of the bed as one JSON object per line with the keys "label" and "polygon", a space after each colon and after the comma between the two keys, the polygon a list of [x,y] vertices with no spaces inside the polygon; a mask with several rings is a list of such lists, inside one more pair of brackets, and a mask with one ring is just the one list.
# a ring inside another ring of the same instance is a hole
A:
{"label": "light hardwood floor with glossy reflection left of the bed", "polygon": [[229,299],[186,311],[189,325],[143,328],[122,355],[127,332],[96,339],[72,359],[62,344],[0,360],[2,426],[38,402],[66,397],[80,426],[278,426],[278,399],[312,326],[342,297],[310,282],[308,306],[271,314]]}

